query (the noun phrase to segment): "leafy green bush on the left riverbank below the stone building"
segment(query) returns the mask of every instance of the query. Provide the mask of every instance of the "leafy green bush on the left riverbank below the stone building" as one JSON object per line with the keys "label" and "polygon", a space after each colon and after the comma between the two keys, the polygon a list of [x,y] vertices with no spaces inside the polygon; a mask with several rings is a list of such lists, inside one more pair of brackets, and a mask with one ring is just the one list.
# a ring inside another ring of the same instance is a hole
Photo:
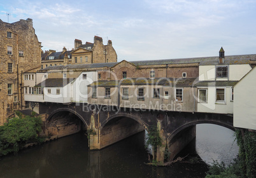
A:
{"label": "leafy green bush on the left riverbank below the stone building", "polygon": [[41,118],[18,114],[18,118],[11,118],[0,126],[0,156],[17,153],[25,144],[42,142]]}

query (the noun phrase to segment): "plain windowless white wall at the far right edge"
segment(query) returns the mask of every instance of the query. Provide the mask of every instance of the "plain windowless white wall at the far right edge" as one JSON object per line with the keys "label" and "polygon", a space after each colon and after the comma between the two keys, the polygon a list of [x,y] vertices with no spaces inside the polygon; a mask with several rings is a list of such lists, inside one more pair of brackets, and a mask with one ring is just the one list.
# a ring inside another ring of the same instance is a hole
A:
{"label": "plain windowless white wall at the far right edge", "polygon": [[234,127],[256,130],[256,68],[234,86]]}

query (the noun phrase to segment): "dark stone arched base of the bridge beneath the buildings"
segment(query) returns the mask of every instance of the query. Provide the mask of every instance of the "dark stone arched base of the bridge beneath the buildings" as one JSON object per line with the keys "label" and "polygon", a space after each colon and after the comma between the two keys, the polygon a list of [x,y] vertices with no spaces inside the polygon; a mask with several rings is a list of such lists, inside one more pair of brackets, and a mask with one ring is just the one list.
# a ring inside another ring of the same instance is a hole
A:
{"label": "dark stone arched base of the bridge beneath the buildings", "polygon": [[[157,125],[162,146],[157,148],[156,159],[162,162],[166,147],[171,153],[169,160],[172,160],[183,147],[196,137],[196,125],[199,123],[212,123],[234,130],[232,116],[225,114],[180,113],[122,107],[118,110],[115,106],[77,103],[53,104],[45,102],[39,103],[39,105],[39,113],[46,114],[45,130],[49,135],[58,135],[60,133],[58,130],[61,129],[75,133],[80,130],[80,124],[85,130],[90,129],[90,149],[102,149],[130,135],[147,130],[150,125]],[[61,121],[65,117],[69,118],[69,123]],[[70,127],[71,122],[74,122],[79,129],[73,130]],[[57,132],[53,132],[53,127],[57,128],[55,129]],[[59,136],[63,135],[60,134]]]}

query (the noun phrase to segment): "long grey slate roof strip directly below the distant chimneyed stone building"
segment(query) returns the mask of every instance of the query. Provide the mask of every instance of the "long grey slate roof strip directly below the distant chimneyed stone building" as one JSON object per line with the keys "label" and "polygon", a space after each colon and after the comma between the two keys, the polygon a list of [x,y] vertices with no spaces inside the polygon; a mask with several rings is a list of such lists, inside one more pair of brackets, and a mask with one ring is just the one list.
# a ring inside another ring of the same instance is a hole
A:
{"label": "long grey slate roof strip directly below the distant chimneyed stone building", "polygon": [[95,64],[69,64],[69,65],[55,65],[45,67],[43,70],[62,70],[62,69],[90,69],[90,68],[100,68],[100,67],[113,67],[118,64],[118,62],[108,62],[108,63],[95,63]]}

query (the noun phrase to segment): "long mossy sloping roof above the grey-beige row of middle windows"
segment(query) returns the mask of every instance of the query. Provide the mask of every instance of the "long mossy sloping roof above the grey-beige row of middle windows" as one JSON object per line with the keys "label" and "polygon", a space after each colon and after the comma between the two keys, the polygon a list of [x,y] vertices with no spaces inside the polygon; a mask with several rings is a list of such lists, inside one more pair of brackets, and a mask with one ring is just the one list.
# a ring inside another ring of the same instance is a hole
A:
{"label": "long mossy sloping roof above the grey-beige row of middle windows", "polygon": [[117,87],[120,85],[162,85],[162,86],[193,86],[196,78],[127,78],[121,81],[96,81],[89,86]]}

